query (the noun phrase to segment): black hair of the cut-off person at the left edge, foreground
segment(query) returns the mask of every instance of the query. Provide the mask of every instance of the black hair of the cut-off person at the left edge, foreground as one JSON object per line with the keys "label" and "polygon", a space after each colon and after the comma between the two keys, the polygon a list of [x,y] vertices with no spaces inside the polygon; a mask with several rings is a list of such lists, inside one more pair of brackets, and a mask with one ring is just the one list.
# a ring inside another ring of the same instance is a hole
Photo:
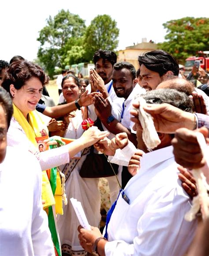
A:
{"label": "black hair of the cut-off person at the left edge, foreground", "polygon": [[9,93],[0,87],[0,104],[4,108],[5,114],[7,115],[7,130],[10,126],[11,117],[13,115],[12,100]]}

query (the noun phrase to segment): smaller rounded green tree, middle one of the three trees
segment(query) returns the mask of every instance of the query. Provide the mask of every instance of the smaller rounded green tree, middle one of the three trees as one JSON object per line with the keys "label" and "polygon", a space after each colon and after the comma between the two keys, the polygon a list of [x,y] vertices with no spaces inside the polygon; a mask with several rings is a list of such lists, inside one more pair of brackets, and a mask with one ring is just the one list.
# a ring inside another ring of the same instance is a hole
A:
{"label": "smaller rounded green tree, middle one of the three trees", "polygon": [[116,26],[116,21],[106,14],[98,15],[91,21],[84,36],[87,60],[92,60],[94,52],[98,49],[116,50],[119,42],[119,29]]}

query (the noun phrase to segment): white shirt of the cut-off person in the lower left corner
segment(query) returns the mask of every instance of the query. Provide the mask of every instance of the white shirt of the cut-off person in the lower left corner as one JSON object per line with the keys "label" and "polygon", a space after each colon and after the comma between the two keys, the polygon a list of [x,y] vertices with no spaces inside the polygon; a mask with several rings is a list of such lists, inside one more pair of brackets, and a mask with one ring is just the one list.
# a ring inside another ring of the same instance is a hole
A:
{"label": "white shirt of the cut-off person in the lower left corner", "polygon": [[55,255],[42,208],[40,165],[13,147],[0,164],[0,255]]}

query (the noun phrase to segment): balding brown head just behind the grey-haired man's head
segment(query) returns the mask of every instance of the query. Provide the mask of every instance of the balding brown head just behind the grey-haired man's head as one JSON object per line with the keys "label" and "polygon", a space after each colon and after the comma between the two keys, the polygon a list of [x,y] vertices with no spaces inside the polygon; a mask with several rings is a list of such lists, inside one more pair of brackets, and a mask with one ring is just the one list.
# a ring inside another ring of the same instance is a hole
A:
{"label": "balding brown head just behind the grey-haired man's head", "polygon": [[182,78],[174,78],[174,79],[166,80],[160,83],[156,89],[164,89],[164,88],[176,89],[177,91],[184,92],[187,95],[192,95],[192,92],[194,91],[194,85]]}

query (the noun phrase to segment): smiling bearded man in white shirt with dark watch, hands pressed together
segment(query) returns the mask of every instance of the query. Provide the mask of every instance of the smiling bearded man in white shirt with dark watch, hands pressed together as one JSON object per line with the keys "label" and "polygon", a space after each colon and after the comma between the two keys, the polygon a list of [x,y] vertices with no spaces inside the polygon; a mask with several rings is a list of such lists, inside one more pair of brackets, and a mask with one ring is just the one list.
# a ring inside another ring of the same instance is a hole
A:
{"label": "smiling bearded man in white shirt with dark watch, hands pressed together", "polygon": [[[137,84],[136,70],[134,66],[126,61],[116,63],[112,72],[113,88],[118,99],[104,100],[101,96],[95,96],[95,108],[105,128],[112,134],[127,133],[129,140],[136,145],[136,134],[132,130],[134,123],[131,122],[130,110],[136,95],[146,91]],[[122,102],[121,102],[121,99]],[[119,173],[122,172],[122,166]],[[122,187],[125,187],[131,175],[126,167],[122,172]]]}

